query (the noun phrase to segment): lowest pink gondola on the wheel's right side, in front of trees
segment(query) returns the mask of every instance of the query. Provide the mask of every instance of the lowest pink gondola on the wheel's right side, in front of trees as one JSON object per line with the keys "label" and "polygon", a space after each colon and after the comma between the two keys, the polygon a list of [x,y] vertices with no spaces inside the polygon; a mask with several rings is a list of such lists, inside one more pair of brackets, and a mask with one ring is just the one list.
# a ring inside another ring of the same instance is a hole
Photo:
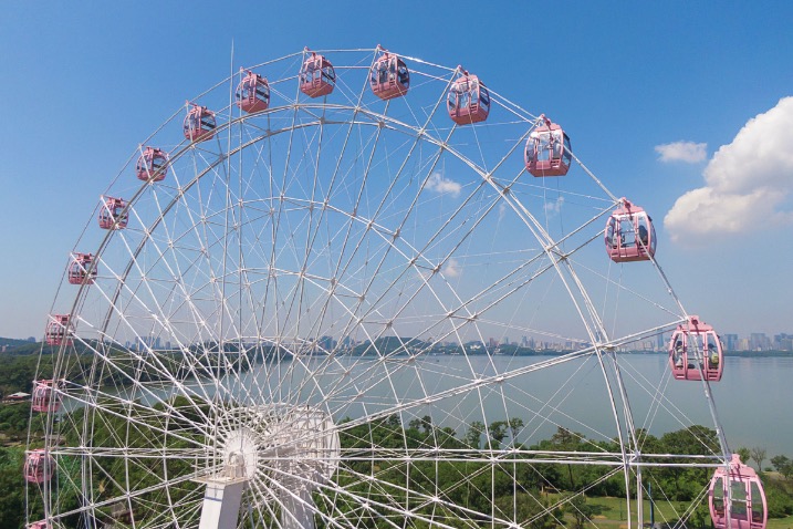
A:
{"label": "lowest pink gondola on the wheel's right side, in front of trees", "polygon": [[[728,495],[729,487],[729,495]],[[738,454],[732,455],[729,473],[720,467],[710,480],[708,507],[716,529],[765,529],[769,509],[763,484],[749,465],[741,463]]]}

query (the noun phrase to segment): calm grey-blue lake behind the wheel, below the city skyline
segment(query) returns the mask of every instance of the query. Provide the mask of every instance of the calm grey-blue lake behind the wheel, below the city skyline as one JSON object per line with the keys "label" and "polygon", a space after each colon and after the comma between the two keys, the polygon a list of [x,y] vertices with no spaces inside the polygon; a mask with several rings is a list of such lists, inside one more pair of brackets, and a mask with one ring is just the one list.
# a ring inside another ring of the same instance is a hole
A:
{"label": "calm grey-blue lake behind the wheel, below the city skyline", "polygon": [[[617,359],[636,427],[660,435],[691,424],[713,426],[702,383],[671,378],[666,355],[620,354]],[[258,365],[226,385],[257,401],[322,402],[336,421],[401,409],[404,423],[430,415],[434,423],[459,434],[473,421],[490,424],[520,417],[522,442],[547,438],[556,425],[592,439],[614,438],[614,412],[596,359],[530,372],[532,365],[557,360],[497,355],[382,362],[342,356],[328,362],[307,357]],[[769,457],[793,456],[789,409],[793,357],[726,357],[724,362],[722,380],[710,388],[730,447],[765,447]],[[479,386],[472,382],[499,375],[507,377]],[[616,387],[614,377],[611,382]],[[468,388],[459,390],[466,384]],[[622,417],[618,398],[616,406]]]}

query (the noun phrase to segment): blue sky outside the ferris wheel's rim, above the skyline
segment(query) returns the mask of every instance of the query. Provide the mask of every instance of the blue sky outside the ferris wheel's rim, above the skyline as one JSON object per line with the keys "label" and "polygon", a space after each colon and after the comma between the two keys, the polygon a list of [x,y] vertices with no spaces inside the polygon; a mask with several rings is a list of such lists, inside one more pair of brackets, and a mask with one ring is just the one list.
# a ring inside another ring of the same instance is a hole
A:
{"label": "blue sky outside the ferris wheel's rim, above the skyline", "polygon": [[7,2],[0,335],[43,333],[98,195],[230,72],[232,42],[234,70],[382,43],[476,71],[653,215],[687,309],[720,332],[793,332],[791,22],[787,2]]}

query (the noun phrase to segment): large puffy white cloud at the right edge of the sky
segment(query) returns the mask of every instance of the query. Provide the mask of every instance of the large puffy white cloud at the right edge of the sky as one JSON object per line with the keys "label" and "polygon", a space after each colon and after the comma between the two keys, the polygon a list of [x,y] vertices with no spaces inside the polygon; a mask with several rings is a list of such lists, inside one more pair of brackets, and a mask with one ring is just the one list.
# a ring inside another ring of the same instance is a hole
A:
{"label": "large puffy white cloud at the right edge of the sky", "polygon": [[664,218],[672,240],[793,222],[793,97],[749,120],[702,174],[705,187],[678,198]]}

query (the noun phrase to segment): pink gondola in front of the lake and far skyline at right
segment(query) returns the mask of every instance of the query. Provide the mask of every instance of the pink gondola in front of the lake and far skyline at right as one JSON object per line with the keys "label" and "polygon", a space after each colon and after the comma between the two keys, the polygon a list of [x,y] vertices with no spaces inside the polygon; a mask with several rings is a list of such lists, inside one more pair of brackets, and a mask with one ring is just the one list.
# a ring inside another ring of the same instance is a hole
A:
{"label": "pink gondola in front of the lake and far skyline at right", "polygon": [[680,381],[718,382],[724,365],[721,340],[712,326],[690,315],[678,325],[669,341],[669,366]]}

